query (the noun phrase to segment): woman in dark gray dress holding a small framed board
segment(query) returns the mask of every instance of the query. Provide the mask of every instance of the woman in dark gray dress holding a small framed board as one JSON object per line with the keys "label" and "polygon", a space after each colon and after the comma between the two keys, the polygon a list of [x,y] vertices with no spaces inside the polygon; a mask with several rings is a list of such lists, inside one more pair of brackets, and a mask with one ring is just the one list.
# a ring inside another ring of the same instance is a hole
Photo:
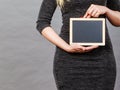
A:
{"label": "woman in dark gray dress holding a small framed board", "polygon": [[[50,26],[57,5],[63,19],[60,35]],[[114,90],[116,63],[107,27],[105,46],[69,45],[69,19],[102,17],[120,26],[119,10],[118,0],[43,0],[37,29],[57,46],[54,76],[58,90]]]}

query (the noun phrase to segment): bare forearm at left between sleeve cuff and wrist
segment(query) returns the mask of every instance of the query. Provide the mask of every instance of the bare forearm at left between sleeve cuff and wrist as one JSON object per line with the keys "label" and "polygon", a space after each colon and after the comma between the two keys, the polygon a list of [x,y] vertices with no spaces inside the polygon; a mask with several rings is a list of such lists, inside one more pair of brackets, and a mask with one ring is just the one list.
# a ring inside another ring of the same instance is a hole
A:
{"label": "bare forearm at left between sleeve cuff and wrist", "polygon": [[69,44],[66,43],[59,35],[55,33],[55,31],[51,27],[46,27],[42,31],[42,35],[51,43],[58,46],[59,48],[68,51]]}

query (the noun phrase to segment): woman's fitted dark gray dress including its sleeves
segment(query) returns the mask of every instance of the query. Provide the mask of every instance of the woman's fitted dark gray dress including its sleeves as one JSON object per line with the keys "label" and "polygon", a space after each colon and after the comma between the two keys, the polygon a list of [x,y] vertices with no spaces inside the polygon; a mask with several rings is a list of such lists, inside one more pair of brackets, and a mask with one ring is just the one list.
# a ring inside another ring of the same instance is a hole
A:
{"label": "woman's fitted dark gray dress including its sleeves", "polygon": [[[65,0],[64,7],[61,9],[63,26],[60,37],[67,43],[69,42],[69,18],[83,16],[91,4],[120,10],[118,0],[70,0],[69,2]],[[37,21],[39,32],[50,26],[56,7],[55,0],[43,1]],[[54,76],[58,90],[114,90],[116,63],[107,27],[106,45],[91,52],[72,54],[57,47]]]}

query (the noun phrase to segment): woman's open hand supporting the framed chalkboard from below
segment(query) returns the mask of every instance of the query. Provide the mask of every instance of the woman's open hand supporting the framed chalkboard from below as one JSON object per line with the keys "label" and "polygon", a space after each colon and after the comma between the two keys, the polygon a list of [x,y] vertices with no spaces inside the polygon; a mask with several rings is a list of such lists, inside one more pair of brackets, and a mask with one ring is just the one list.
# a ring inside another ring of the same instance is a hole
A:
{"label": "woman's open hand supporting the framed chalkboard from below", "polygon": [[67,48],[66,51],[69,53],[86,53],[86,52],[90,52],[96,48],[98,48],[97,45],[84,47],[84,46],[81,46],[79,44],[72,44],[72,45],[69,45],[69,47]]}

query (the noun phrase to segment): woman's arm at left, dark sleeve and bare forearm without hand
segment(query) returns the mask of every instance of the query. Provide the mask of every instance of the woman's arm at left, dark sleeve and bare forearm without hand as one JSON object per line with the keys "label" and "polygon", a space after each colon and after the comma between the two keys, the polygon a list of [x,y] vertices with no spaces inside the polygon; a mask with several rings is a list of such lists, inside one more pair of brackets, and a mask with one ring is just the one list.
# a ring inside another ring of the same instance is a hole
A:
{"label": "woman's arm at left, dark sleeve and bare forearm without hand", "polygon": [[70,46],[50,26],[56,7],[56,0],[43,0],[37,20],[37,30],[54,45],[69,51]]}

